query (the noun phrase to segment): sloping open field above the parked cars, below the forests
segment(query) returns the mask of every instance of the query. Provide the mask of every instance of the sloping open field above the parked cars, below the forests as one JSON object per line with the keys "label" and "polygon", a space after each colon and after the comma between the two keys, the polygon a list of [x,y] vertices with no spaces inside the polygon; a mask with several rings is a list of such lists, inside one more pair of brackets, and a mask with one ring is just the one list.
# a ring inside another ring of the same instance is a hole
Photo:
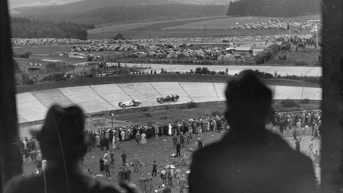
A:
{"label": "sloping open field above the parked cars, below the forests", "polygon": [[[128,39],[148,39],[149,38],[149,25],[151,38],[166,38],[166,37],[204,37],[204,24],[206,24],[206,37],[223,37],[223,36],[255,36],[256,30],[250,29],[232,29],[227,30],[228,27],[237,25],[236,22],[241,24],[265,21],[265,20],[281,20],[281,21],[308,21],[320,19],[321,15],[305,15],[295,17],[258,17],[258,16],[245,16],[245,17],[208,17],[208,18],[192,18],[174,21],[160,21],[148,22],[139,24],[122,24],[111,25],[104,27],[104,38],[114,37],[116,34],[121,33],[124,38]],[[108,24],[110,25],[110,24]],[[287,34],[285,31],[277,29],[259,29],[258,35],[281,35]],[[102,39],[102,28],[88,30],[88,38]],[[304,34],[299,33],[299,34]],[[306,33],[307,34],[307,31]]]}

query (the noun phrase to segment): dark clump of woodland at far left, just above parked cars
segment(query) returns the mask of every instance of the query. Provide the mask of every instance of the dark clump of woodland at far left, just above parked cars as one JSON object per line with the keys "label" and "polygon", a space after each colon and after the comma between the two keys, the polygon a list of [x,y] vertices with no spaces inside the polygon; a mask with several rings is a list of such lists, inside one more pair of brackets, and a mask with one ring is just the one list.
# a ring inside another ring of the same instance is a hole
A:
{"label": "dark clump of woodland at far left, just above parked cars", "polygon": [[75,38],[87,39],[87,30],[93,29],[93,24],[72,22],[50,22],[30,20],[28,18],[11,18],[13,38]]}

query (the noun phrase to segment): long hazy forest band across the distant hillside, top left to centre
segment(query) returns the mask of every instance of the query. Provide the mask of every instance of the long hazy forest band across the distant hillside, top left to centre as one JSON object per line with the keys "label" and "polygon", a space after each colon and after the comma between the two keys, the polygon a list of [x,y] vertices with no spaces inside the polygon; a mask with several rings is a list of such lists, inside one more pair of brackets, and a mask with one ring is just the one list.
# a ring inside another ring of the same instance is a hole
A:
{"label": "long hazy forest band across the distant hillside, top left to centre", "polygon": [[130,5],[100,8],[83,13],[34,15],[34,18],[55,22],[71,21],[98,25],[102,23],[123,24],[224,16],[226,11],[226,5]]}

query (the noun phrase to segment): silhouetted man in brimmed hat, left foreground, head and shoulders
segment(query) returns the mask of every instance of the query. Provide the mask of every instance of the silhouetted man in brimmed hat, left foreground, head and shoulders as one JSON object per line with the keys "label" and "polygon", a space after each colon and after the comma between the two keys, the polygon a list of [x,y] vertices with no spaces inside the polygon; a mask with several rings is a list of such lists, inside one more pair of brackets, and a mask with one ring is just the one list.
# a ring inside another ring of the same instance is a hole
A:
{"label": "silhouetted man in brimmed hat, left foreground, head and shoulders", "polygon": [[[84,115],[79,107],[52,106],[36,135],[43,156],[49,161],[45,175],[14,177],[6,192],[121,192],[93,180],[79,167],[81,156],[93,144],[92,138],[84,133]],[[133,193],[127,185],[123,187]]]}

